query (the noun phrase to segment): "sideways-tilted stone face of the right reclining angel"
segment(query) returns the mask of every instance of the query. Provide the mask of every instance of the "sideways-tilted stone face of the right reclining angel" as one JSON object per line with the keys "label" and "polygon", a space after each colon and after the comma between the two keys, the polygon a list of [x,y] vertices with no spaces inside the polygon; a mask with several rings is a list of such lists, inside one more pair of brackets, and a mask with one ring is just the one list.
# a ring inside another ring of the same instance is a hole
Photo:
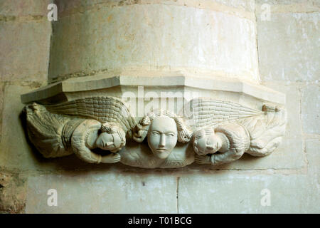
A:
{"label": "sideways-tilted stone face of the right reclining angel", "polygon": [[213,154],[222,146],[223,140],[213,130],[199,130],[193,137],[193,150],[198,155]]}

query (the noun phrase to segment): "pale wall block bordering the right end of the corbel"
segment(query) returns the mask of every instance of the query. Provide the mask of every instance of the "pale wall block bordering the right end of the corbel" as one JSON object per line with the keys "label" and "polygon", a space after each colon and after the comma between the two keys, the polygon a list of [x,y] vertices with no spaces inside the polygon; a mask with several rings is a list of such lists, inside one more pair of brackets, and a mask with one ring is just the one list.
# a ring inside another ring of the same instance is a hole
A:
{"label": "pale wall block bordering the right end of the corbel", "polygon": [[286,94],[287,128],[284,138],[271,155],[252,157],[245,155],[233,163],[221,165],[220,169],[267,170],[267,169],[300,169],[306,166],[304,154],[302,123],[300,120],[299,88],[297,86],[279,86],[266,84],[274,90]]}

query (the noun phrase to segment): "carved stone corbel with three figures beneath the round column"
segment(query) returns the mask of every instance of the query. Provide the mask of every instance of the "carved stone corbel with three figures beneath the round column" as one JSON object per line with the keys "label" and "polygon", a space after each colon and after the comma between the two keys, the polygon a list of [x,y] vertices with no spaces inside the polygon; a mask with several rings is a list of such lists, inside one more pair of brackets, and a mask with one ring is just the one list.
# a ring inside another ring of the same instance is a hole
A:
{"label": "carved stone corbel with three figures beneath the round column", "polygon": [[[179,88],[180,110],[135,115],[119,98],[128,90],[126,77],[72,79],[21,95],[28,137],[44,157],[74,153],[85,162],[144,168],[220,165],[244,153],[263,157],[282,141],[287,121],[282,93],[240,81],[201,85],[193,79],[191,86],[186,76],[173,78],[168,88],[160,79],[135,82],[157,90]],[[200,96],[187,100],[188,90]]]}

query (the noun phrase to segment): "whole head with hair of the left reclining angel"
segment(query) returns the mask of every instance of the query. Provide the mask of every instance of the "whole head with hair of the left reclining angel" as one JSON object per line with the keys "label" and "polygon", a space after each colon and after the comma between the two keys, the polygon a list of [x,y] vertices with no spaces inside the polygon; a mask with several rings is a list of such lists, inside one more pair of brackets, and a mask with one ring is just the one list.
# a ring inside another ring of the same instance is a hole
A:
{"label": "whole head with hair of the left reclining angel", "polygon": [[114,123],[102,123],[95,145],[102,150],[117,152],[126,145],[126,134]]}

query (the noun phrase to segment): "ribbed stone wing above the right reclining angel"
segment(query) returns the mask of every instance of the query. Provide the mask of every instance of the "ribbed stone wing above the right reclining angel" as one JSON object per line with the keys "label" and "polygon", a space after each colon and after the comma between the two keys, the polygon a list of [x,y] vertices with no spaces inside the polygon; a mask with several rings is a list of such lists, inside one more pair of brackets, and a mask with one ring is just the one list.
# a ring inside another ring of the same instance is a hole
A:
{"label": "ribbed stone wing above the right reclining angel", "polygon": [[195,98],[183,108],[183,118],[192,130],[215,127],[241,118],[263,115],[264,112],[245,107],[238,103],[212,98]]}

